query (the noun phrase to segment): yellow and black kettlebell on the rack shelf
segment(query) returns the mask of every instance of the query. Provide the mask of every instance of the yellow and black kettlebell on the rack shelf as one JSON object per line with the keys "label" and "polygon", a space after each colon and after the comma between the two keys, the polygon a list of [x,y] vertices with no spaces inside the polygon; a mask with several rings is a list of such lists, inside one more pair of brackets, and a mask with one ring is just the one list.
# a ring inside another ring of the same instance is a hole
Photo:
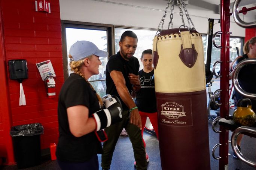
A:
{"label": "yellow and black kettlebell on the rack shelf", "polygon": [[240,99],[237,109],[233,113],[233,121],[240,126],[252,126],[256,120],[256,115],[252,110],[252,102],[249,98]]}

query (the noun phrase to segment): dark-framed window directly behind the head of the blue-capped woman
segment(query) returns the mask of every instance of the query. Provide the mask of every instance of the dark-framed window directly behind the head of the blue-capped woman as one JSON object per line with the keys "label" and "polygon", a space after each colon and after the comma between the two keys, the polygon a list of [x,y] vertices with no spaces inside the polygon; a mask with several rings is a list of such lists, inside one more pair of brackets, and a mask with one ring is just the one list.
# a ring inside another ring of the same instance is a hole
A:
{"label": "dark-framed window directly behind the head of the blue-capped woman", "polygon": [[[112,33],[111,26],[102,27],[100,26],[90,26],[86,23],[72,22],[65,23],[67,21],[62,21],[63,30],[63,63],[64,63],[64,78],[66,79],[70,75],[70,67],[68,58],[69,49],[72,44],[76,41],[86,40],[93,42],[100,50],[108,51],[109,56],[112,55],[112,40],[109,37]],[[106,95],[106,64],[107,58],[100,58],[101,65],[99,67],[99,74],[91,76],[88,81],[97,91],[100,96]]]}

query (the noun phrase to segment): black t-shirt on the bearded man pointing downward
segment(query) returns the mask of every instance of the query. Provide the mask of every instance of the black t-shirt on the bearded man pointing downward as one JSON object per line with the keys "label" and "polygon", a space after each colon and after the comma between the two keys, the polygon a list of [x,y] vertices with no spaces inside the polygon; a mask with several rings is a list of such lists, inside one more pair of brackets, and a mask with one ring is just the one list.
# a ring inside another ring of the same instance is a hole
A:
{"label": "black t-shirt on the bearded man pointing downward", "polygon": [[[129,61],[122,58],[120,52],[118,52],[116,55],[113,55],[109,58],[109,61],[107,62],[107,71],[106,71],[106,85],[107,85],[107,94],[116,95],[120,100],[121,97],[119,96],[116,86],[110,77],[110,72],[113,70],[122,72],[124,79],[125,79],[125,85],[128,88],[128,91],[132,92],[132,85],[129,81],[129,73],[133,73],[134,75],[138,75],[138,70],[140,68],[140,63],[138,62],[138,59],[134,56],[132,56]],[[124,104],[124,102],[121,100],[122,106],[124,109],[127,109],[127,106]]]}

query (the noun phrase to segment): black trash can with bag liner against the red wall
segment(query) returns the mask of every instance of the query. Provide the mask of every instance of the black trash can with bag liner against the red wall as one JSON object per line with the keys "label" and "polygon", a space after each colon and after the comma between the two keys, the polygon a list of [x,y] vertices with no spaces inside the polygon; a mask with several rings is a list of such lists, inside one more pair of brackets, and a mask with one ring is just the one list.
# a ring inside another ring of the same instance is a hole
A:
{"label": "black trash can with bag liner against the red wall", "polygon": [[41,163],[40,123],[13,126],[10,135],[13,139],[14,155],[18,169],[37,166]]}

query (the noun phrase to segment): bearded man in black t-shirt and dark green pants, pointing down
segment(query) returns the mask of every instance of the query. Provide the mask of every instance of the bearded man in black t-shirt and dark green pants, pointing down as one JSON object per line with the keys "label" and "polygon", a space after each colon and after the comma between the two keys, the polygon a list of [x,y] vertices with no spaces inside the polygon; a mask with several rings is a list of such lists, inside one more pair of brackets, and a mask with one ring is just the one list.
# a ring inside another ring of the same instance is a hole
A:
{"label": "bearded man in black t-shirt and dark green pants, pointing down", "polygon": [[[140,89],[138,76],[139,62],[133,56],[137,48],[138,38],[132,31],[125,31],[119,41],[120,51],[109,58],[106,71],[107,94],[121,99],[123,107],[122,122],[105,129],[109,140],[103,144],[101,167],[110,169],[116,142],[123,128],[128,133],[137,162],[137,170],[146,170],[146,153],[141,137],[141,118],[138,108],[131,98],[132,91]],[[122,160],[120,160],[122,161]]]}

